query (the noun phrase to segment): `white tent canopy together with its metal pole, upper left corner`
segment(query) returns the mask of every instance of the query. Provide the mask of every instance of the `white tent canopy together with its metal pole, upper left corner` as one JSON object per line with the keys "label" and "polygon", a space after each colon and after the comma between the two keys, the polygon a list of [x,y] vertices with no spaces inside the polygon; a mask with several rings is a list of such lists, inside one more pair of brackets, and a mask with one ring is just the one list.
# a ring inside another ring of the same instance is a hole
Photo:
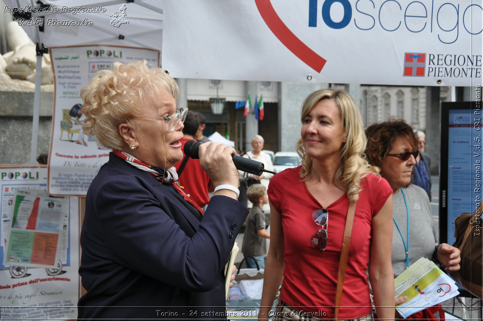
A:
{"label": "white tent canopy together with its metal pole, upper left corner", "polygon": [[[161,51],[163,1],[158,0],[3,0],[39,48],[111,44]],[[128,23],[114,26],[112,17],[125,5]],[[39,8],[44,8],[40,10]],[[90,11],[90,12],[87,12]],[[23,20],[21,20],[23,19]],[[41,19],[41,20],[38,20]],[[39,28],[39,22],[42,27]],[[37,164],[42,57],[37,56],[30,163]]]}

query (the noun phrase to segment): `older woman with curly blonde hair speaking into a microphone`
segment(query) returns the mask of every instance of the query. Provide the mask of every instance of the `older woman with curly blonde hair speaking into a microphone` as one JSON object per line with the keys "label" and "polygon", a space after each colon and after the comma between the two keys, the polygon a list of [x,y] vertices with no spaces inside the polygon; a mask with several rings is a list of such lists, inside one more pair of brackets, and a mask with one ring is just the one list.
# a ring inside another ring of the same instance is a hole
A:
{"label": "older woman with curly blonde hair speaking into a microphone", "polygon": [[176,182],[186,109],[176,109],[173,78],[146,61],[116,62],[81,96],[85,133],[112,152],[86,196],[79,319],[224,315],[225,264],[248,214],[236,201],[235,150],[199,147],[215,187],[203,216]]}

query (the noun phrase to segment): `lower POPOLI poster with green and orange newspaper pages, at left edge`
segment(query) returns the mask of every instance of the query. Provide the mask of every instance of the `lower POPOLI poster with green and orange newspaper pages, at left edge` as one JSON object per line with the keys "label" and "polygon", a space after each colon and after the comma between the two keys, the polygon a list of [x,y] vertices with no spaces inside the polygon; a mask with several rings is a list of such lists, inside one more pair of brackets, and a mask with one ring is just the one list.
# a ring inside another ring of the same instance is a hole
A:
{"label": "lower POPOLI poster with green and orange newspaper pages, at left edge", "polygon": [[75,319],[79,199],[49,196],[46,167],[2,167],[0,188],[1,318]]}

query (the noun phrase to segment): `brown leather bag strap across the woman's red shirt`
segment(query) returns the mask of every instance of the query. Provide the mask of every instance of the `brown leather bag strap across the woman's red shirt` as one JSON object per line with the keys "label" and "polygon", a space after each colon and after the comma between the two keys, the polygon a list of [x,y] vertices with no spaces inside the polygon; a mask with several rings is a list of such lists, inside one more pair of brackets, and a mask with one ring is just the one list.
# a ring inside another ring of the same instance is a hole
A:
{"label": "brown leather bag strap across the woman's red shirt", "polygon": [[335,294],[335,320],[337,320],[337,316],[339,315],[339,307],[341,306],[342,286],[344,284],[347,257],[349,256],[349,244],[351,243],[352,224],[354,223],[356,203],[357,202],[349,201],[347,219],[345,219],[344,238],[342,239],[341,249],[341,261],[339,263],[339,276],[337,277],[337,290]]}

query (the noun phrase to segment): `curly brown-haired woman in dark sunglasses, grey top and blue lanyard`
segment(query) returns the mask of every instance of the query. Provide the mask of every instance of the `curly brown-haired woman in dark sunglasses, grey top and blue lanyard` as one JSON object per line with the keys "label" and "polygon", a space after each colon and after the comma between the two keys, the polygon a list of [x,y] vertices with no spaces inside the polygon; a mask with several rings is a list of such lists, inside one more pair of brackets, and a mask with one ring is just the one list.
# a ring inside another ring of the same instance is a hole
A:
{"label": "curly brown-haired woman in dark sunglasses, grey top and blue lanyard", "polygon": [[[366,155],[393,190],[394,277],[421,257],[441,263],[446,271],[459,270],[460,251],[449,244],[436,246],[436,230],[425,190],[412,184],[418,139],[403,119],[389,119],[366,129]],[[409,237],[409,240],[408,240]],[[409,253],[406,255],[406,253]],[[400,297],[400,304],[407,298]]]}

